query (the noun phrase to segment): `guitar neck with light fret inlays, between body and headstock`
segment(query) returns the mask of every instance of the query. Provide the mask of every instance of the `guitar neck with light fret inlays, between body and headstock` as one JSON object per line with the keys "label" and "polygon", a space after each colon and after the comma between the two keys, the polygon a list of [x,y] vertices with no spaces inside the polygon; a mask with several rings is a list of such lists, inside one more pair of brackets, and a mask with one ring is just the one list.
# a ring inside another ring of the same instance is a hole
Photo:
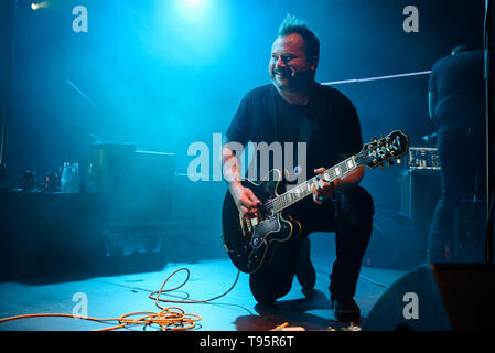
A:
{"label": "guitar neck with light fret inlays, between body and headstock", "polygon": [[273,213],[283,211],[293,205],[298,201],[313,193],[313,185],[323,176],[324,180],[332,182],[337,178],[342,178],[357,168],[355,156],[347,158],[338,164],[325,170],[322,174],[315,175],[312,179],[286,191],[283,194],[272,200]]}

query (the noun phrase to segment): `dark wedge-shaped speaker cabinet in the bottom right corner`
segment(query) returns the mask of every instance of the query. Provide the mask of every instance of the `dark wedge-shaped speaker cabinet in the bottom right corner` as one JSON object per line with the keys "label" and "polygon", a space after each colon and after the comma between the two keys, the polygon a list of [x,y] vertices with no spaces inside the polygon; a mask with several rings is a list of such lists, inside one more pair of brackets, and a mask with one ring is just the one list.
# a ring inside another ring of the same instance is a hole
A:
{"label": "dark wedge-shaped speaker cabinet in the bottom right corner", "polygon": [[493,330],[495,267],[424,264],[378,299],[363,331]]}

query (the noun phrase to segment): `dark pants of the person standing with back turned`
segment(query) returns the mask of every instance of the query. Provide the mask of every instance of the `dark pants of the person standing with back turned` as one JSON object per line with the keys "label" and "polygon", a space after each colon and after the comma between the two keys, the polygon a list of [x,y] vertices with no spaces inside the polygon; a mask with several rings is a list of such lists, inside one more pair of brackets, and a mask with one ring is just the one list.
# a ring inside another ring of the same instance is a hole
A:
{"label": "dark pants of the person standing with back turned", "polygon": [[442,167],[442,193],[434,210],[427,261],[445,260],[444,246],[453,232],[454,215],[463,199],[484,196],[485,137],[483,129],[456,128],[439,135],[437,146]]}

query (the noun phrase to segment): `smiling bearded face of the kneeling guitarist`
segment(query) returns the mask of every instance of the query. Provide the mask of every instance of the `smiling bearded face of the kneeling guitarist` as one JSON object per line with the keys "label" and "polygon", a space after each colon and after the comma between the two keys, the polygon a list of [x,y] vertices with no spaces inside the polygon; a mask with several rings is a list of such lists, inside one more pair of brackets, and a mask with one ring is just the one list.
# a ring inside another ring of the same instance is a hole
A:
{"label": "smiling bearded face of the kneeling guitarist", "polygon": [[271,47],[268,66],[271,81],[280,90],[299,90],[314,78],[318,57],[306,57],[306,44],[298,33],[279,36]]}

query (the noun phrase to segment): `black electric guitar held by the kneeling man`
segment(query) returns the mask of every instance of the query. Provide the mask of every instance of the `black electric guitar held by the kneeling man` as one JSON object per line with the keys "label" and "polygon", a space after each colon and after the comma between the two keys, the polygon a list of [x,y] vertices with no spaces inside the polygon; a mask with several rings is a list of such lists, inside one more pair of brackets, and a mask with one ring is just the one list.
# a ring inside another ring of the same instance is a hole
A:
{"label": "black electric guitar held by the kneeling man", "polygon": [[283,180],[279,170],[268,172],[261,183],[244,180],[243,186],[249,188],[262,205],[255,217],[244,217],[227,191],[222,210],[222,239],[230,260],[243,272],[258,271],[263,266],[270,246],[277,242],[288,242],[301,232],[301,224],[289,214],[288,207],[312,194],[312,186],[320,179],[332,182],[361,165],[370,169],[384,167],[385,162],[392,165],[392,159],[400,163],[400,158],[408,149],[409,138],[396,130],[380,139],[374,138],[364,145],[359,153],[283,193],[280,193]]}

